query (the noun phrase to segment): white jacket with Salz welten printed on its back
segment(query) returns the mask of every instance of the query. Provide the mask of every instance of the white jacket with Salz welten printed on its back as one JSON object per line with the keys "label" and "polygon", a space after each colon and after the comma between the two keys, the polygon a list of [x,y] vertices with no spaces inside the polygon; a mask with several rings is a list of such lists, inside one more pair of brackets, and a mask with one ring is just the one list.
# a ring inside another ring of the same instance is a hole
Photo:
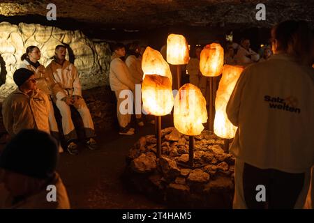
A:
{"label": "white jacket with Salz welten printed on its back", "polygon": [[314,70],[287,54],[248,66],[227,104],[230,151],[260,169],[301,173],[314,162]]}

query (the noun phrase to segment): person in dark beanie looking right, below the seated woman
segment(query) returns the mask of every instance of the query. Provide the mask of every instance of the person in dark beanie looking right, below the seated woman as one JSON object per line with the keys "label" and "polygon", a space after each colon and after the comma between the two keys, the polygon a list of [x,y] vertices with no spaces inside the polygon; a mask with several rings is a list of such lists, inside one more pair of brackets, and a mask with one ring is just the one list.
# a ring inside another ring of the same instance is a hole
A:
{"label": "person in dark beanie looking right, below the seated woman", "polygon": [[10,137],[24,129],[50,133],[47,95],[37,89],[34,72],[26,68],[15,70],[13,80],[17,89],[3,101],[3,125]]}

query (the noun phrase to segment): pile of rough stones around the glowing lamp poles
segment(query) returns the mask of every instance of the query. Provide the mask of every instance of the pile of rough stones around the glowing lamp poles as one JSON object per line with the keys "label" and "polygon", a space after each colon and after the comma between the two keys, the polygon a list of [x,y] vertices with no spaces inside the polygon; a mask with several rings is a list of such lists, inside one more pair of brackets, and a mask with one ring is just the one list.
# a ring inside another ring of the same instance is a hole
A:
{"label": "pile of rough stones around the glowing lamp poles", "polygon": [[188,139],[165,128],[163,155],[157,158],[156,137],[141,137],[127,157],[126,183],[174,208],[231,208],[234,157],[223,151],[223,139],[209,131],[195,137],[193,168],[188,167]]}

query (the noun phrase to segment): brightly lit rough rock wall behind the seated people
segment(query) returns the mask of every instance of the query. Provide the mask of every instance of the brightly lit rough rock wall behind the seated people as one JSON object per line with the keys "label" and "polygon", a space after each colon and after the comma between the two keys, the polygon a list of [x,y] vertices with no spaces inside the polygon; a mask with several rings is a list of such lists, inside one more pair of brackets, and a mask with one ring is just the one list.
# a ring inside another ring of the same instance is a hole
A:
{"label": "brightly lit rough rock wall behind the seated people", "polygon": [[59,44],[68,45],[67,59],[73,62],[80,74],[82,89],[108,85],[110,66],[110,48],[107,43],[94,43],[81,31],[67,31],[40,24],[19,25],[8,22],[0,23],[0,61],[1,78],[6,82],[0,86],[0,101],[16,86],[13,72],[18,68],[20,57],[30,45],[39,47],[40,63],[47,66],[54,56],[54,47]]}

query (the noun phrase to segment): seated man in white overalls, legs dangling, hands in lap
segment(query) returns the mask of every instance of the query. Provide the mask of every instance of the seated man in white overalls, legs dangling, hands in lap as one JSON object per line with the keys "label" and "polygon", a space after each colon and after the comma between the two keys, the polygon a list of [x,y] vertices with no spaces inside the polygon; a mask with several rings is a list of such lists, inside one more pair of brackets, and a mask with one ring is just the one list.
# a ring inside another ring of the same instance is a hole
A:
{"label": "seated man in white overalls, legs dangling, hands in lap", "polygon": [[78,154],[77,133],[71,118],[70,105],[80,113],[84,124],[86,145],[94,150],[97,148],[94,123],[91,119],[91,113],[82,98],[82,86],[77,69],[66,60],[66,47],[57,45],[55,49],[54,60],[47,66],[46,72],[49,77],[54,79],[57,86],[52,89],[54,101],[62,116],[62,129],[67,141],[67,150],[71,155]]}

